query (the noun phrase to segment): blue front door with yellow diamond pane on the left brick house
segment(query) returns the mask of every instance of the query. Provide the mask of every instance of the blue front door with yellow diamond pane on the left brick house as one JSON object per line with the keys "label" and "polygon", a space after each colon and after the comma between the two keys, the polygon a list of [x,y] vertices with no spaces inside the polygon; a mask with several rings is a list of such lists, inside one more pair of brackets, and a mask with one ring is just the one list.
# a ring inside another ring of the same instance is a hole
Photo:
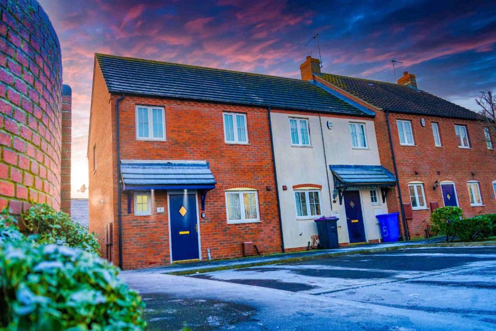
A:
{"label": "blue front door with yellow diamond pane on the left brick house", "polygon": [[169,195],[171,219],[172,261],[198,259],[198,228],[196,196],[194,194]]}

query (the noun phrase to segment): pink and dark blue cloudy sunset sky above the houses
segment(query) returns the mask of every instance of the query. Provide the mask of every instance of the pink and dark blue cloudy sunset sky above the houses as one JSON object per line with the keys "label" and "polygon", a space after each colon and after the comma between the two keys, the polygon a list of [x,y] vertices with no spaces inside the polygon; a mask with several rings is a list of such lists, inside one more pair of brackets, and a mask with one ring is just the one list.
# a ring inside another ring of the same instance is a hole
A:
{"label": "pink and dark blue cloudy sunset sky above the houses", "polygon": [[324,72],[392,82],[395,58],[398,75],[415,73],[420,89],[472,110],[481,89],[496,89],[493,1],[39,2],[72,87],[73,197],[88,178],[96,52],[299,78],[318,33]]}

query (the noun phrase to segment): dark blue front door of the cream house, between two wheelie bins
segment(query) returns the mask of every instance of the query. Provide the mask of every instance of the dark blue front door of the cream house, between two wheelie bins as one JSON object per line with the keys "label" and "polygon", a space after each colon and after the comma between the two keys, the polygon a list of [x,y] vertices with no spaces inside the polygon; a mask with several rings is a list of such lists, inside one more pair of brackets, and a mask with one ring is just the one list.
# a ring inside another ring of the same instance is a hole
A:
{"label": "dark blue front door of the cream house, between two wheelie bins", "polygon": [[344,209],[346,211],[350,244],[365,242],[364,218],[362,216],[362,203],[360,202],[359,191],[345,191]]}

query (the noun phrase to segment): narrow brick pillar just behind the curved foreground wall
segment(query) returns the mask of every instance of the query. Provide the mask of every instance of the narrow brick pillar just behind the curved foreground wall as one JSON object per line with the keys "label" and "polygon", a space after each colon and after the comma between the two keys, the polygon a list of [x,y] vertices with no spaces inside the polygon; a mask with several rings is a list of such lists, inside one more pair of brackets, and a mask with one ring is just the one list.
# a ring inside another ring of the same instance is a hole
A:
{"label": "narrow brick pillar just behind the curved foreground wall", "polygon": [[61,209],[70,215],[70,155],[72,124],[72,92],[62,86],[62,160],[61,160]]}

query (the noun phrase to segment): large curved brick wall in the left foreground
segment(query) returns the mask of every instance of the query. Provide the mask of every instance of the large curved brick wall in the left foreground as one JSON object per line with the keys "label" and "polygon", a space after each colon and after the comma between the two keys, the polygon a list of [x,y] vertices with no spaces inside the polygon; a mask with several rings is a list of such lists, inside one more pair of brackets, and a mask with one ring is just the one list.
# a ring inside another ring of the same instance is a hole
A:
{"label": "large curved brick wall in the left foreground", "polygon": [[62,61],[36,0],[0,1],[0,208],[60,208]]}

